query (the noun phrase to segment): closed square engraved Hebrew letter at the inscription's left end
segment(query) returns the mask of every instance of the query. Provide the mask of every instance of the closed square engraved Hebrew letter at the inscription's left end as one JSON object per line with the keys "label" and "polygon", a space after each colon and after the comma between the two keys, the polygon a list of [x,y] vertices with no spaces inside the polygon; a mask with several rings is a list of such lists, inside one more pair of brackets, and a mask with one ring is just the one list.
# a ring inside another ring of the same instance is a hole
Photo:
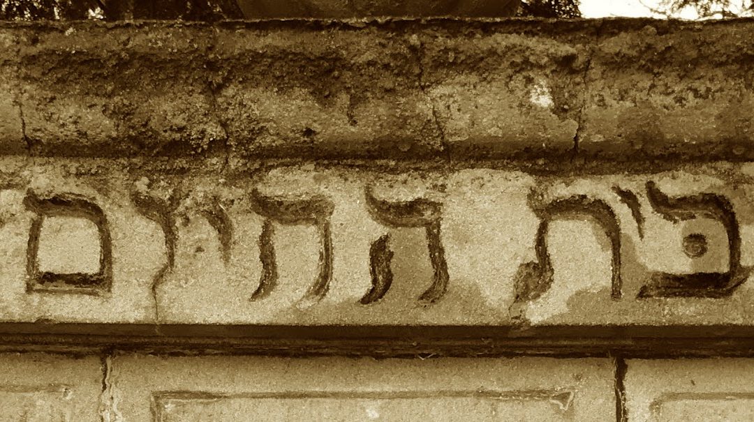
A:
{"label": "closed square engraved Hebrew letter at the inscription's left end", "polygon": [[[76,194],[58,194],[41,198],[32,191],[26,193],[23,203],[27,209],[36,213],[32,220],[29,247],[26,252],[26,272],[29,275],[26,290],[87,294],[108,292],[112,286],[112,243],[107,218],[102,208]],[[59,274],[40,269],[38,254],[42,225],[45,219],[51,217],[87,219],[97,227],[100,243],[98,271]]]}

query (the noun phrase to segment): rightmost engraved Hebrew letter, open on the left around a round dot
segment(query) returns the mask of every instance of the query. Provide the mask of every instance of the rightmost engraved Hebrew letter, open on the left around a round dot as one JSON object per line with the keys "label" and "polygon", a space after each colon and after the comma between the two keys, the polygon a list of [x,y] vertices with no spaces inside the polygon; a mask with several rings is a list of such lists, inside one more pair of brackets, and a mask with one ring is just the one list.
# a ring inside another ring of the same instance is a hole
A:
{"label": "rightmost engraved Hebrew letter, open on the left around a round dot", "polygon": [[[743,268],[741,238],[738,220],[731,202],[719,194],[694,194],[668,197],[654,182],[647,182],[647,197],[654,211],[670,222],[686,221],[697,217],[716,219],[722,223],[728,236],[728,271],[700,272],[694,274],[668,274],[656,272],[639,290],[639,298],[694,297],[722,298],[746,281],[751,268]],[[691,234],[685,239],[687,255],[694,258],[706,252],[703,234]]]}

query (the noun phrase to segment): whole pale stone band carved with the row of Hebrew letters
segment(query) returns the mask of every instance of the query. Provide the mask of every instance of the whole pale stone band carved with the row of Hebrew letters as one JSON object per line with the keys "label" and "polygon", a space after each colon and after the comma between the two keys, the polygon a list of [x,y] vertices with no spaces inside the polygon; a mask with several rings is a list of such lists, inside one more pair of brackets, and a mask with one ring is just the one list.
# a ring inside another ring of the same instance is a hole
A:
{"label": "whole pale stone band carved with the row of Hebrew letters", "polygon": [[110,187],[69,175],[0,195],[0,320],[57,318],[66,293],[112,321],[754,324],[744,165],[569,179],[109,171],[122,175]]}

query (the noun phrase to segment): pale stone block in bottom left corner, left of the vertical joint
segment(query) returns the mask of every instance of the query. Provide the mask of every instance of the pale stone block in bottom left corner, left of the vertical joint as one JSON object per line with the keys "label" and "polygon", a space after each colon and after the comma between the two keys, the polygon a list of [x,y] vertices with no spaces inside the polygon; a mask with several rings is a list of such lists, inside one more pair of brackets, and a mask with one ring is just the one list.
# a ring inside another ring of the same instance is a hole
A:
{"label": "pale stone block in bottom left corner, left of the vertical joint", "polygon": [[99,357],[2,353],[0,365],[0,420],[102,420]]}

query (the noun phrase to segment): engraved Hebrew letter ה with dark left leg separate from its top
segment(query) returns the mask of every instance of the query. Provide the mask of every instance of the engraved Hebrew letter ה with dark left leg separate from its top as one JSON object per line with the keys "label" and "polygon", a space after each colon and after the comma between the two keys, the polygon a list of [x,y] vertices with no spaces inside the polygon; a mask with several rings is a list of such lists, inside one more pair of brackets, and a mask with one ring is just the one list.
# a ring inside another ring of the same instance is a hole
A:
{"label": "engraved Hebrew letter \u05d4 with dark left leg separate from its top", "polygon": [[[433,270],[432,285],[419,296],[420,301],[432,303],[442,298],[448,289],[448,264],[445,249],[440,238],[442,221],[440,203],[415,199],[390,202],[378,200],[366,188],[366,205],[375,221],[389,227],[423,227],[427,233],[429,256]],[[390,269],[393,252],[390,249],[390,235],[380,237],[369,249],[369,272],[372,275],[372,289],[361,298],[362,304],[370,304],[381,299],[390,289],[393,274]]]}

